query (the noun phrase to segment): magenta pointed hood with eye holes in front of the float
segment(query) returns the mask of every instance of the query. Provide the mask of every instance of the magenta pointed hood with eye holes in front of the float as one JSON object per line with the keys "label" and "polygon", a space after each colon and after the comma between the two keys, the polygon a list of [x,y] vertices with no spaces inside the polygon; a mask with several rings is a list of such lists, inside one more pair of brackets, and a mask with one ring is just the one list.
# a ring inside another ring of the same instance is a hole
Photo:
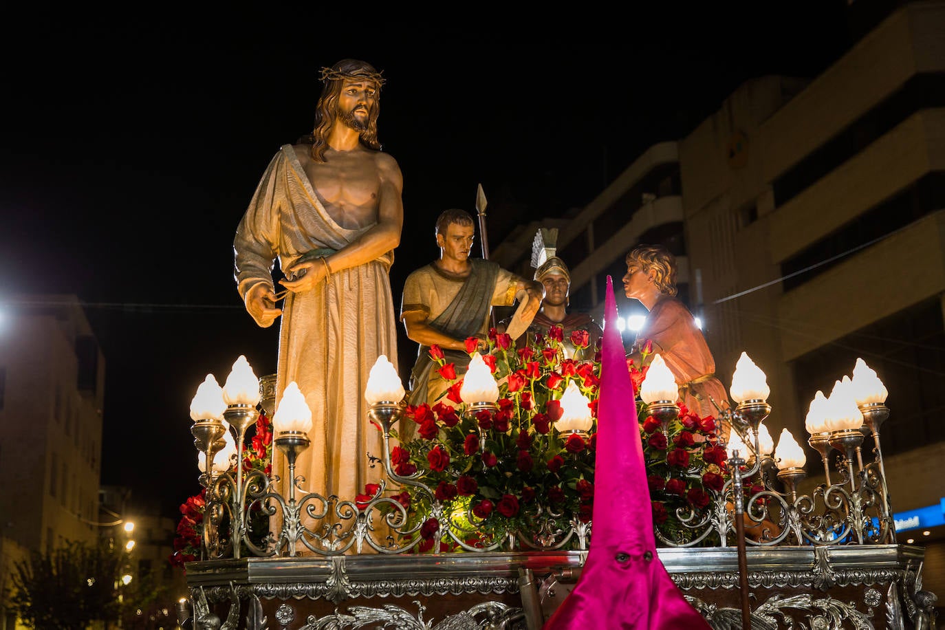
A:
{"label": "magenta pointed hood with eye holes in front of the float", "polygon": [[576,587],[543,630],[709,628],[657,555],[636,402],[616,321],[608,276],[591,549]]}

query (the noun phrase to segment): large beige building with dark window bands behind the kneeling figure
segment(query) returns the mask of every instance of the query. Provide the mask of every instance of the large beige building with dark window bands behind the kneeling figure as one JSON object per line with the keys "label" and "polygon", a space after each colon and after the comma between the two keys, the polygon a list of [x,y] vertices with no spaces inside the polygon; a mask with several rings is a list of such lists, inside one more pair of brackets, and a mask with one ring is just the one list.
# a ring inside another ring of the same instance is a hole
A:
{"label": "large beige building with dark window bands behind the kneeling figure", "polygon": [[[742,351],[765,371],[776,437],[787,428],[803,443],[816,391],[829,395],[857,358],[876,370],[889,391],[881,447],[898,538],[927,545],[925,587],[936,593],[945,592],[943,33],[945,3],[902,3],[819,76],[747,81],[566,217],[559,238],[572,305],[595,315],[629,249],[670,247],[680,298],[702,320],[722,382]],[[819,454],[807,455],[806,483],[822,483]]]}

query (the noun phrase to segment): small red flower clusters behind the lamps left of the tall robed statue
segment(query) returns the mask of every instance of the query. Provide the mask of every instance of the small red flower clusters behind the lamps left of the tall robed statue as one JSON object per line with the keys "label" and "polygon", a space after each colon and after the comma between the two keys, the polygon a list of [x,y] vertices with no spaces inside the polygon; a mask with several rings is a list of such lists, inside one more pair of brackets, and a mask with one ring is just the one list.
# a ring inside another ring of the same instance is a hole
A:
{"label": "small red flower clusters behind the lamps left of the tall robed statue", "polygon": [[[249,444],[243,450],[243,471],[260,470],[266,476],[272,472],[272,421],[265,413],[260,412],[256,419],[255,431]],[[227,431],[230,429],[228,428]],[[234,456],[235,459],[235,456]],[[230,472],[234,472],[235,461]],[[174,537],[174,552],[167,560],[175,567],[184,567],[184,563],[193,562],[200,558],[200,547],[203,540],[203,513],[207,505],[207,488],[202,488],[198,494],[189,497],[180,504],[180,521]],[[268,517],[254,504],[249,510],[249,535],[260,541],[268,533]]]}

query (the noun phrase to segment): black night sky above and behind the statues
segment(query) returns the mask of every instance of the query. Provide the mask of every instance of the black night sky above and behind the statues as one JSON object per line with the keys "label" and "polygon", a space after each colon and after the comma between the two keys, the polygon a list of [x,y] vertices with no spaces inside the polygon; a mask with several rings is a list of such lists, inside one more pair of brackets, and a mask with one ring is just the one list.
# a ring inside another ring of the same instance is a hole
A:
{"label": "black night sky above and behind the statues", "polygon": [[87,305],[107,366],[102,483],[174,516],[199,489],[198,384],[222,384],[240,354],[275,371],[278,325],[243,309],[232,236],[272,155],[311,129],[321,66],[351,57],[387,77],[379,138],[404,174],[399,304],[406,275],[438,255],[435,217],[474,213],[478,183],[494,248],[519,221],[586,205],[748,78],[815,77],[851,43],[844,2],[661,6],[517,24],[275,5],[5,13],[0,307],[16,294]]}

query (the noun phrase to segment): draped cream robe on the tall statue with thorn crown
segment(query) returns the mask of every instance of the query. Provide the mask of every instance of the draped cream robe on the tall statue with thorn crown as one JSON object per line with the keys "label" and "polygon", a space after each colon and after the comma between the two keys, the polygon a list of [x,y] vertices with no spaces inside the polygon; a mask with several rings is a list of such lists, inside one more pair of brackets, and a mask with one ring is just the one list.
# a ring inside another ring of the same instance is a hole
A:
{"label": "draped cream robe on the tall statue with thorn crown", "polygon": [[[269,163],[233,241],[240,296],[273,285],[273,260],[284,270],[314,249],[338,250],[369,227],[347,230],[325,211],[291,145]],[[364,398],[370,368],[384,354],[397,366],[397,332],[389,269],[393,251],[368,264],[335,271],[326,282],[283,303],[276,404],[285,386],[299,384],[312,410],[311,446],[297,461],[303,487],[327,497],[354,500],[385,474],[369,468],[368,453],[382,456],[380,432],[370,423]],[[274,428],[279,431],[279,427]],[[277,489],[288,496],[288,467],[273,449]],[[297,499],[301,500],[297,491]],[[318,505],[317,505],[318,506]]]}

